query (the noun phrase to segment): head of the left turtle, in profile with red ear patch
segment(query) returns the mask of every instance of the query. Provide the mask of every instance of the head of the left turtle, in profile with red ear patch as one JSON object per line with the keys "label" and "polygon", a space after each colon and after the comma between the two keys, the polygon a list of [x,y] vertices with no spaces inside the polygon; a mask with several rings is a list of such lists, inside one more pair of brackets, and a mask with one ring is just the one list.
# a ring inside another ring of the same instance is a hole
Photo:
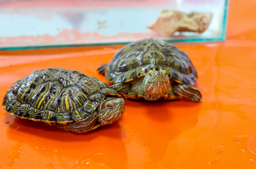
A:
{"label": "head of the left turtle, in profile with red ear patch", "polygon": [[98,122],[111,124],[118,120],[125,112],[125,101],[123,98],[106,98],[99,106]]}

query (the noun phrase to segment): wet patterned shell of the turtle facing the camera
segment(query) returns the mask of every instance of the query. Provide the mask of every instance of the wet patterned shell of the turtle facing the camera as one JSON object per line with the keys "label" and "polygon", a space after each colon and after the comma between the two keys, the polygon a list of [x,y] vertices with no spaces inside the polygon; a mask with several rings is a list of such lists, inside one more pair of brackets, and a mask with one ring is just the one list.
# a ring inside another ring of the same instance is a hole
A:
{"label": "wet patterned shell of the turtle facing the camera", "polygon": [[170,79],[181,84],[197,81],[196,68],[184,51],[153,38],[129,43],[117,51],[105,75],[113,83],[129,82],[150,70],[166,70]]}

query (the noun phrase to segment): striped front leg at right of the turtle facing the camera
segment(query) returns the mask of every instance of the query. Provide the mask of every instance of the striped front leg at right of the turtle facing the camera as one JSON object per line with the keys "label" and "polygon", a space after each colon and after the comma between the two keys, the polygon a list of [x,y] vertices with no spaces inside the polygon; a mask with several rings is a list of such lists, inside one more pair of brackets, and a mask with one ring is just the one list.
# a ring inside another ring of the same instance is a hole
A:
{"label": "striped front leg at right of the turtle facing the camera", "polygon": [[173,92],[176,95],[187,97],[192,102],[200,102],[202,98],[200,90],[187,84],[174,84]]}

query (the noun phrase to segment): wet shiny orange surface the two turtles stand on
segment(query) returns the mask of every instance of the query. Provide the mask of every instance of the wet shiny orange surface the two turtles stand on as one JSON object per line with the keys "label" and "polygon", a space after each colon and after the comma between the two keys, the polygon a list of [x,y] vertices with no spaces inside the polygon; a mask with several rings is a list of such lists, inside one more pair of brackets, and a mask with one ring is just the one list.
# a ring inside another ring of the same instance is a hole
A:
{"label": "wet shiny orange surface the two turtles stand on", "polygon": [[[111,125],[76,134],[16,118],[0,108],[0,168],[256,168],[256,1],[231,0],[227,40],[176,44],[199,74],[200,103],[125,99]],[[120,48],[120,46],[119,46]],[[0,52],[0,98],[32,71],[96,73],[114,47]]]}

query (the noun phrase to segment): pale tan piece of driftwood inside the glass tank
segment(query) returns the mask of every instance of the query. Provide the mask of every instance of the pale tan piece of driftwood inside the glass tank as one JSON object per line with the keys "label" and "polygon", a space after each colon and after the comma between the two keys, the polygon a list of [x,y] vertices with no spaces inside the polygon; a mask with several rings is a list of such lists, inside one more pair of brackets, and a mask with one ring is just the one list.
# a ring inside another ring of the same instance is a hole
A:
{"label": "pale tan piece of driftwood inside the glass tank", "polygon": [[212,13],[197,13],[175,10],[163,10],[154,24],[147,28],[159,32],[162,35],[170,36],[178,32],[204,32],[211,23]]}

